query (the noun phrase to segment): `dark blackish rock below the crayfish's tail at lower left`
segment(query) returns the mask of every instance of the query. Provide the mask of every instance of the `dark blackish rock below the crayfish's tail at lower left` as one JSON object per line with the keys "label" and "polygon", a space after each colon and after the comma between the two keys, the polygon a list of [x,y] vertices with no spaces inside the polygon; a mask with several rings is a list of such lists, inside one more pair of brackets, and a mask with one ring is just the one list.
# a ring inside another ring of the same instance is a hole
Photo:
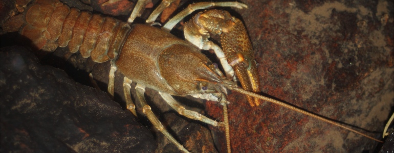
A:
{"label": "dark blackish rock below the crayfish's tail at lower left", "polygon": [[0,52],[0,152],[152,152],[154,137],[105,93],[42,66],[23,47]]}

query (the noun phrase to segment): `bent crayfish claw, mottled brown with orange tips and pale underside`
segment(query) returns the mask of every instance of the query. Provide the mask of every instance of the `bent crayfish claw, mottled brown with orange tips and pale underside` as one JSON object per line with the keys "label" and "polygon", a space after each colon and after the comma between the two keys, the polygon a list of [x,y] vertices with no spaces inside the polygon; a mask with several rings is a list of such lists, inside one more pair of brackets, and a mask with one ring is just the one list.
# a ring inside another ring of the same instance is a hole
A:
{"label": "bent crayfish claw, mottled brown with orange tips and pale underside", "polygon": [[[185,24],[185,38],[201,49],[213,49],[221,61],[228,79],[234,72],[247,91],[260,92],[254,52],[244,23],[223,10],[208,10],[196,14]],[[211,35],[221,37],[222,48],[209,41]],[[249,97],[250,106],[259,100]]]}

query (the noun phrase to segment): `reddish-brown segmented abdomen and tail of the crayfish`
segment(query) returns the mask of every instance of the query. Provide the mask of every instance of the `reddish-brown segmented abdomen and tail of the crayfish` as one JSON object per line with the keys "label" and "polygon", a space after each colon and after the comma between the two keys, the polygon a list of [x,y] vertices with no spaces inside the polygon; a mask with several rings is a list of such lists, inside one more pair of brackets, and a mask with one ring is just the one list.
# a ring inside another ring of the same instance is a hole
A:
{"label": "reddish-brown segmented abdomen and tail of the crayfish", "polygon": [[37,3],[26,12],[27,25],[21,35],[32,40],[36,49],[53,51],[68,46],[95,62],[114,59],[130,27],[111,17],[69,8],[58,1]]}

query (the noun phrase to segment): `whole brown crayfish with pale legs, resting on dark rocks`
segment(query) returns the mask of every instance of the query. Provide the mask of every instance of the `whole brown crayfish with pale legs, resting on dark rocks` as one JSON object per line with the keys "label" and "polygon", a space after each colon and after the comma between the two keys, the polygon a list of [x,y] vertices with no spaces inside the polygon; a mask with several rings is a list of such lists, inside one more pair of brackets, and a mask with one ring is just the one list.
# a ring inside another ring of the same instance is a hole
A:
{"label": "whole brown crayfish with pale legs, resting on dark rocks", "polygon": [[[146,22],[155,21],[162,12],[161,8],[164,9],[172,2],[163,1]],[[207,10],[194,15],[185,23],[184,35],[187,41],[168,32],[195,10],[211,7],[244,9],[247,8],[245,4],[238,2],[192,4],[173,16],[161,29],[148,24],[130,24],[141,14],[145,5],[146,1],[138,1],[126,23],[69,8],[57,1],[37,1],[27,9],[26,25],[20,33],[31,39],[36,49],[52,51],[58,46],[68,46],[70,52],[75,53],[79,50],[83,57],[91,57],[94,62],[111,61],[108,92],[114,95],[115,71],[120,71],[125,76],[123,88],[126,107],[137,116],[136,106],[130,98],[130,84],[136,82],[136,94],[143,113],[166,138],[184,152],[189,150],[165,130],[146,103],[144,95],[146,87],[158,91],[168,105],[185,117],[200,120],[212,126],[225,126],[229,152],[231,150],[229,139],[231,127],[226,119],[227,105],[233,104],[229,103],[233,101],[227,100],[227,90],[247,95],[247,101],[251,107],[259,106],[262,100],[270,101],[374,139],[329,119],[256,94],[260,92],[260,79],[254,61],[252,44],[243,22],[231,16],[227,11]],[[211,35],[219,35],[221,45],[211,41],[209,39]],[[200,49],[214,50],[225,74],[217,64],[202,54]],[[239,80],[244,89],[239,88],[234,80]],[[198,112],[186,110],[172,95],[191,95],[217,101],[223,105],[225,121],[217,122]]]}

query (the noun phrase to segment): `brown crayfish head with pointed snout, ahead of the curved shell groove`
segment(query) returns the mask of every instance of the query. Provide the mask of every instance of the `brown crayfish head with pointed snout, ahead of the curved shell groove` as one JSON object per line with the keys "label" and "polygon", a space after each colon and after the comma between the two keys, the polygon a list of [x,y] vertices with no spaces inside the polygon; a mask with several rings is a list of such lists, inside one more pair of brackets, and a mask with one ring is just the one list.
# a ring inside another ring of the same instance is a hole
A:
{"label": "brown crayfish head with pointed snout, ahead of the curved shell groove", "polygon": [[158,67],[172,95],[227,94],[220,86],[226,82],[223,73],[194,46],[168,46],[158,57]]}

